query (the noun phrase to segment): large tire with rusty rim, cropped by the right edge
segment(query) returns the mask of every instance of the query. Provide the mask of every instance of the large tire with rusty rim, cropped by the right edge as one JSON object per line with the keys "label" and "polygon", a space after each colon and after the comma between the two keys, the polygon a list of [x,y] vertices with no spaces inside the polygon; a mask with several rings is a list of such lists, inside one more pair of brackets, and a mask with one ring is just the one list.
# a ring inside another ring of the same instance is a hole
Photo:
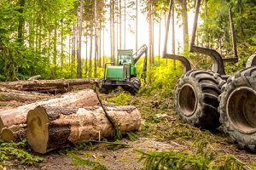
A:
{"label": "large tire with rusty rim, cropped by the right edge", "polygon": [[220,122],[243,150],[256,152],[256,66],[238,71],[220,95]]}

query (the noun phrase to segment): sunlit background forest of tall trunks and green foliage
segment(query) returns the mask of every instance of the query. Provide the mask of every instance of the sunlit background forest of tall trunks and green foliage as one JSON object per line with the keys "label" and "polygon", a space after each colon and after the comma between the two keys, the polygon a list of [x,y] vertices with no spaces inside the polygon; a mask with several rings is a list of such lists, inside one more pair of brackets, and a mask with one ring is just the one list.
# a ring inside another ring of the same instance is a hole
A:
{"label": "sunlit background forest of tall trunks and green foliage", "polygon": [[[102,77],[103,63],[114,61],[116,49],[124,48],[121,38],[125,37],[119,35],[121,31],[115,30],[123,30],[121,34],[124,35],[127,25],[125,20],[131,20],[134,27],[137,25],[137,16],[128,14],[129,8],[147,17],[148,33],[145,36],[148,36],[148,69],[149,72],[156,72],[159,64],[164,66],[166,62],[160,61],[160,56],[156,57],[154,46],[162,46],[162,43],[154,44],[154,38],[160,35],[152,28],[154,25],[164,26],[160,20],[167,14],[168,3],[166,0],[1,0],[0,81],[26,80],[38,74],[44,79]],[[209,68],[211,62],[206,61],[204,56],[189,54],[187,48],[188,12],[194,10],[195,1],[175,0],[174,4],[177,17],[173,18],[173,23],[182,23],[183,27],[183,48],[176,47],[179,49],[177,54],[189,58],[195,67]],[[141,7],[139,11],[138,6]],[[256,51],[254,1],[201,1],[203,24],[198,28],[196,41],[202,47],[214,48],[223,57],[232,55],[228,8],[233,12],[240,58],[235,67],[227,65],[227,72],[233,72],[244,67],[246,59]],[[110,23],[109,28],[106,28],[107,23]],[[110,35],[105,37],[111,37],[111,56],[101,53],[104,49],[101,44],[106,41],[102,38],[104,29],[110,30]],[[82,37],[86,41],[82,41]],[[81,48],[81,43],[85,43],[85,49]],[[137,43],[137,39],[134,43]],[[81,50],[85,50],[85,56],[82,56]],[[181,66],[177,69],[182,71]],[[152,74],[148,74],[149,77]]]}

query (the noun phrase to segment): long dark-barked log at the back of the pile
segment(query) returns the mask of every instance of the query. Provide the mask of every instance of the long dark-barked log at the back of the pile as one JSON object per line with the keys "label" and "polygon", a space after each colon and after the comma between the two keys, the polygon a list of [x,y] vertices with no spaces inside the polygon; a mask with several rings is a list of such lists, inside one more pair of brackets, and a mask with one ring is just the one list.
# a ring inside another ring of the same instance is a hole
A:
{"label": "long dark-barked log at the back of the pile", "polygon": [[63,94],[73,89],[92,88],[98,79],[58,79],[58,80],[32,80],[18,82],[0,82],[0,88],[5,87],[20,91],[37,91],[39,93]]}

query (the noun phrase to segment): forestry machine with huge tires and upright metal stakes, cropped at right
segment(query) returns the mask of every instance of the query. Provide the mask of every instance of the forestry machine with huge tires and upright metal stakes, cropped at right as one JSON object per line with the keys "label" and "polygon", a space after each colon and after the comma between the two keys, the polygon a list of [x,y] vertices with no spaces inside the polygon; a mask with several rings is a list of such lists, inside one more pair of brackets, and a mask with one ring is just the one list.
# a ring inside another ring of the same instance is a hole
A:
{"label": "forestry machine with huge tires and upright metal stakes, cropped at right", "polygon": [[234,57],[222,58],[214,49],[195,46],[201,3],[197,0],[189,52],[207,54],[213,63],[212,70],[191,70],[189,59],[166,53],[172,1],[169,3],[163,58],[178,59],[184,67],[183,76],[178,79],[175,91],[177,115],[183,122],[204,129],[213,129],[222,123],[224,132],[229,133],[232,141],[241,149],[256,152],[256,53],[247,59],[245,69],[233,76],[225,75],[224,62],[235,63],[238,60],[231,10],[230,28]]}

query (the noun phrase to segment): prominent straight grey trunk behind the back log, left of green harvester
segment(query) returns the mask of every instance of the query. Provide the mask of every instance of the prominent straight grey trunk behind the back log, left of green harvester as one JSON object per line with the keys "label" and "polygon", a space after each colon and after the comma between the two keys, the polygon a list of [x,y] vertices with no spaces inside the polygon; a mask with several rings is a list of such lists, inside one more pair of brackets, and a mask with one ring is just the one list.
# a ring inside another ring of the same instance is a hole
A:
{"label": "prominent straight grey trunk behind the back log, left of green harvester", "polygon": [[79,10],[79,49],[78,49],[78,61],[77,61],[78,62],[78,64],[77,64],[77,78],[81,78],[83,8],[84,8],[84,0],[80,0],[80,10]]}

